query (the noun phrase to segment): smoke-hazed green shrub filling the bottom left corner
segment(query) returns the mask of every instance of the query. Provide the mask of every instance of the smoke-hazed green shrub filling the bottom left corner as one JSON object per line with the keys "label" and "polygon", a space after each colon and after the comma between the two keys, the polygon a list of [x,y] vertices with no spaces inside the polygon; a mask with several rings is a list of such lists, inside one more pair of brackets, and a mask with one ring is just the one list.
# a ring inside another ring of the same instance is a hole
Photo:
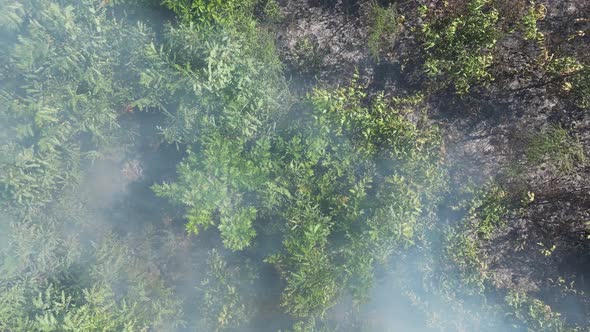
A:
{"label": "smoke-hazed green shrub filling the bottom left corner", "polygon": [[173,330],[183,323],[180,298],[152,272],[153,261],[108,232],[95,233],[90,246],[88,235],[60,217],[10,228],[0,252],[1,330]]}

